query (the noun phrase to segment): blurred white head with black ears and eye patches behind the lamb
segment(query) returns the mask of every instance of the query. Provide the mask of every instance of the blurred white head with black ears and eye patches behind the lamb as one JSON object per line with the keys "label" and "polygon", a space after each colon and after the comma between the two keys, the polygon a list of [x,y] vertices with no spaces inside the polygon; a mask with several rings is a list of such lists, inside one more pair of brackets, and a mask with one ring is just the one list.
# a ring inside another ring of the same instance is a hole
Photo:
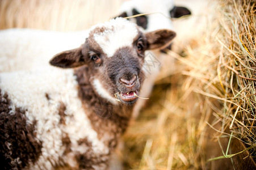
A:
{"label": "blurred white head with black ears and eye patches behind the lamb", "polygon": [[146,31],[164,28],[173,29],[173,22],[170,18],[180,18],[181,16],[191,14],[188,8],[175,6],[175,2],[170,0],[124,1],[119,12],[121,17],[149,14],[130,18],[131,22],[136,23]]}

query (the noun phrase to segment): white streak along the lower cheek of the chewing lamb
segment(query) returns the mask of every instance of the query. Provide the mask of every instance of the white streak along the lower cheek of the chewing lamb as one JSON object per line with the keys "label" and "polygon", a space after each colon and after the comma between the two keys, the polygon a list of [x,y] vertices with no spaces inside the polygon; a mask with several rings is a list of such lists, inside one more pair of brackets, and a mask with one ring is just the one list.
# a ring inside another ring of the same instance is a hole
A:
{"label": "white streak along the lower cheek of the chewing lamb", "polygon": [[100,83],[100,81],[98,79],[94,79],[93,80],[93,85],[94,85],[94,88],[96,90],[96,92],[101,96],[103,97],[104,99],[107,99],[108,101],[110,101],[112,104],[117,104],[117,101],[113,96],[111,96],[107,90],[102,86],[102,84]]}

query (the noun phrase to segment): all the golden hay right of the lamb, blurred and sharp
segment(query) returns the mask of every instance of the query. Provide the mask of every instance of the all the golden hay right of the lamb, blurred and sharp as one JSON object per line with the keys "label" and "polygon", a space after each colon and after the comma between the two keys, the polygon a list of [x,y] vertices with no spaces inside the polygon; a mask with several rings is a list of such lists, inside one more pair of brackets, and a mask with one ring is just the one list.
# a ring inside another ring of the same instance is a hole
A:
{"label": "all the golden hay right of the lamb, blurred and sharp", "polygon": [[169,52],[176,71],[166,75],[163,66],[125,135],[128,168],[233,169],[247,159],[245,166],[255,165],[255,1],[218,1],[213,15],[182,54]]}

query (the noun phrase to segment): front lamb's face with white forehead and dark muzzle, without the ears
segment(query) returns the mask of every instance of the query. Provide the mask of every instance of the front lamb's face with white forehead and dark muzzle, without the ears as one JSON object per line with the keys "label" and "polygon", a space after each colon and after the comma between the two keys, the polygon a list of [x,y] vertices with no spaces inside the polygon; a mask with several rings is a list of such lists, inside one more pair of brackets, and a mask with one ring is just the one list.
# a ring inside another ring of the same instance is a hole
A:
{"label": "front lamb's face with white forehead and dark muzzle, without the ears", "polygon": [[116,97],[121,103],[132,104],[139,95],[143,79],[141,67],[146,37],[135,24],[124,19],[114,21],[90,32],[82,54],[92,70],[95,91]]}

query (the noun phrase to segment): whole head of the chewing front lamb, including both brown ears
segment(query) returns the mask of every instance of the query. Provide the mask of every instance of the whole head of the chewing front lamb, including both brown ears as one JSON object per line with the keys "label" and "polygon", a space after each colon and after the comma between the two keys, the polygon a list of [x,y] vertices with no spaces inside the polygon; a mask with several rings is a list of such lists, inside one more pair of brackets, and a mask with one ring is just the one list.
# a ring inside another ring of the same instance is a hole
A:
{"label": "whole head of the chewing front lamb, including both brown ears", "polygon": [[50,63],[62,68],[86,65],[96,94],[114,104],[116,99],[132,104],[143,80],[145,50],[169,45],[174,37],[167,29],[142,33],[136,24],[116,18],[95,25],[85,44],[57,54]]}

